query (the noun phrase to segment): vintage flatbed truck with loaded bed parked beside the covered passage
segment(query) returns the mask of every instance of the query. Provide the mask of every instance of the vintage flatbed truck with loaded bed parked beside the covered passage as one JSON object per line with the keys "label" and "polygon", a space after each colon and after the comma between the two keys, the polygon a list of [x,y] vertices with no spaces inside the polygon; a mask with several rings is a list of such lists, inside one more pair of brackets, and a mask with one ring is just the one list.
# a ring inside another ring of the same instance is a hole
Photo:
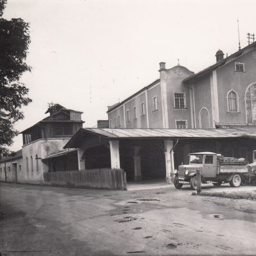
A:
{"label": "vintage flatbed truck with loaded bed parked beside the covered passage", "polygon": [[189,164],[182,164],[175,170],[174,185],[181,189],[188,184],[196,190],[196,170],[200,171],[201,181],[212,182],[214,186],[229,182],[230,186],[238,187],[256,181],[256,162],[249,164],[244,158],[223,157],[212,152],[189,154]]}

